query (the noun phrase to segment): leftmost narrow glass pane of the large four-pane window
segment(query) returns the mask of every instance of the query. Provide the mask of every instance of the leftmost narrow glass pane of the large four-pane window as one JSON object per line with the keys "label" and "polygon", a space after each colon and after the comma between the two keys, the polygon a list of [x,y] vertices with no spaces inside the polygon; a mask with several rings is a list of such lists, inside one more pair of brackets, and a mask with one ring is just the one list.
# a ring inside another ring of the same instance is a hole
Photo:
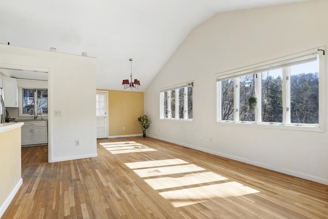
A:
{"label": "leftmost narrow glass pane of the large four-pane window", "polygon": [[234,79],[221,82],[221,120],[234,120]]}

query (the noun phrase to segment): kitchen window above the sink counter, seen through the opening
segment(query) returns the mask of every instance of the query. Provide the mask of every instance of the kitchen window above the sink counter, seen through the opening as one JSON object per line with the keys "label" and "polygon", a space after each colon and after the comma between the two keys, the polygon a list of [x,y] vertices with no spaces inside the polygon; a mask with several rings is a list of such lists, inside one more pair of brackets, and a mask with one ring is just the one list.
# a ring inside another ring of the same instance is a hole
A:
{"label": "kitchen window above the sink counter, seen through the opening", "polygon": [[48,114],[48,90],[47,89],[22,89],[22,114]]}

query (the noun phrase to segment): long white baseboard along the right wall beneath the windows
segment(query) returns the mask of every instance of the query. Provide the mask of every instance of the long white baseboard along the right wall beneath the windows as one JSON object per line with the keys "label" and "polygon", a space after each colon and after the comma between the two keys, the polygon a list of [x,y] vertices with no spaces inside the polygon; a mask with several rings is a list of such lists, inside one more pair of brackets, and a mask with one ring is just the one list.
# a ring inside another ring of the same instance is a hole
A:
{"label": "long white baseboard along the right wall beneath the windows", "polygon": [[314,175],[309,175],[309,174],[305,174],[305,173],[301,173],[301,172],[296,172],[296,171],[293,171],[293,170],[290,170],[290,169],[279,168],[279,167],[276,167],[276,166],[272,166],[270,164],[251,161],[251,160],[245,159],[243,157],[234,156],[234,155],[225,154],[225,153],[220,153],[220,152],[217,152],[217,151],[209,150],[207,148],[201,148],[201,147],[196,147],[194,145],[189,145],[189,144],[185,144],[185,143],[181,143],[181,142],[172,141],[172,140],[169,140],[167,138],[162,138],[162,137],[158,137],[158,136],[154,136],[154,135],[149,135],[149,137],[156,138],[158,140],[162,140],[162,141],[165,141],[165,142],[170,142],[170,143],[173,143],[173,144],[176,144],[176,145],[181,145],[183,147],[192,148],[192,149],[195,149],[195,150],[198,150],[198,151],[203,151],[203,152],[206,152],[206,153],[226,157],[226,158],[229,158],[231,160],[240,161],[242,163],[251,164],[251,165],[254,165],[254,166],[257,166],[257,167],[262,167],[262,168],[265,168],[265,169],[277,171],[277,172],[280,172],[280,173],[285,173],[285,174],[296,176],[296,177],[299,177],[299,178],[304,178],[305,180],[310,180],[310,181],[313,181],[313,182],[328,185],[328,179],[326,179],[326,178],[321,178],[321,177],[317,177],[317,176],[314,176]]}

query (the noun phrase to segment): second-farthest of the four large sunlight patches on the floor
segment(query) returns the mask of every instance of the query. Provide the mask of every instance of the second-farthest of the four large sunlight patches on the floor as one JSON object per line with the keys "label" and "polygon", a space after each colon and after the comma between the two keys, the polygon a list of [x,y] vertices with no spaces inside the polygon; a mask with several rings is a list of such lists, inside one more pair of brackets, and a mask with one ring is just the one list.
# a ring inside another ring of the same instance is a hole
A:
{"label": "second-farthest of the four large sunlight patches on the floor", "polygon": [[202,171],[202,170],[205,169],[193,164],[187,164],[187,165],[179,165],[179,166],[172,166],[172,167],[140,169],[140,170],[133,170],[133,171],[136,174],[138,174],[140,177],[150,177],[150,176],[169,175],[169,174],[176,174],[176,173],[195,172],[195,171]]}

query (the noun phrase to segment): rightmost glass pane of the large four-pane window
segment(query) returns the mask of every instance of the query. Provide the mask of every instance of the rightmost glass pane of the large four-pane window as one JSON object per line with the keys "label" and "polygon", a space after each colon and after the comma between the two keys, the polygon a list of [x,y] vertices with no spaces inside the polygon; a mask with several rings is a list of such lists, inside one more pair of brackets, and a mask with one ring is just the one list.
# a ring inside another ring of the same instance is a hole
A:
{"label": "rightmost glass pane of the large four-pane window", "polygon": [[291,66],[291,123],[319,123],[318,61]]}

